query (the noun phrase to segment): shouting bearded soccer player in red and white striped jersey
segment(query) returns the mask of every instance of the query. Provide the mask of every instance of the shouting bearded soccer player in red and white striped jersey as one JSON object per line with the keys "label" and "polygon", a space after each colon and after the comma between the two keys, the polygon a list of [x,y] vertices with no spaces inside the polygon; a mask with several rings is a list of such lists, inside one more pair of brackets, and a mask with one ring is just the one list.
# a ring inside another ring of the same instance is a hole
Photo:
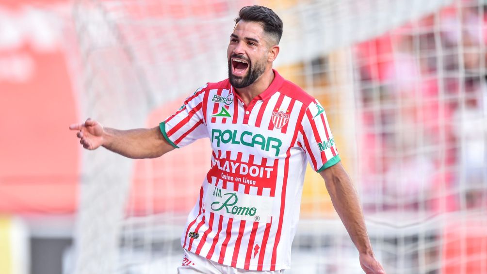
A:
{"label": "shouting bearded soccer player in red and white striped jersey", "polygon": [[196,90],[159,126],[117,130],[88,119],[70,129],[78,131],[84,148],[103,146],[134,159],[210,139],[212,166],[181,238],[180,274],[274,274],[290,268],[306,161],[323,177],[363,270],[385,273],[323,107],[272,69],[281,19],[269,8],[248,6],[235,22],[228,79]]}

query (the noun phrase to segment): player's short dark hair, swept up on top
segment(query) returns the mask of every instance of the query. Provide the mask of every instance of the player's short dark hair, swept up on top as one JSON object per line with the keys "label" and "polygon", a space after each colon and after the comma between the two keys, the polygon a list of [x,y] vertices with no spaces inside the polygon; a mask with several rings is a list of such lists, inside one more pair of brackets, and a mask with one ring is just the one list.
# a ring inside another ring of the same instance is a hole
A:
{"label": "player's short dark hair, swept up on top", "polygon": [[274,38],[279,44],[282,37],[282,20],[271,9],[262,6],[246,6],[239,12],[239,17],[235,18],[235,24],[240,20],[258,22],[262,24],[264,32]]}

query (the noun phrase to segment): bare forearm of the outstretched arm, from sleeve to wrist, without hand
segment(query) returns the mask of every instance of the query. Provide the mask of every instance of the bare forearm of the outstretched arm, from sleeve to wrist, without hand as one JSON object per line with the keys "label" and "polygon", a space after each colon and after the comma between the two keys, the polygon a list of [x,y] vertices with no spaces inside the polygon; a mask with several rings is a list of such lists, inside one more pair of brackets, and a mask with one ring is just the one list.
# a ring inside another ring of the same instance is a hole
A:
{"label": "bare forearm of the outstretched arm, from sleeve to wrist, without hand", "polygon": [[104,128],[102,146],[132,159],[156,158],[174,149],[159,127],[118,130]]}

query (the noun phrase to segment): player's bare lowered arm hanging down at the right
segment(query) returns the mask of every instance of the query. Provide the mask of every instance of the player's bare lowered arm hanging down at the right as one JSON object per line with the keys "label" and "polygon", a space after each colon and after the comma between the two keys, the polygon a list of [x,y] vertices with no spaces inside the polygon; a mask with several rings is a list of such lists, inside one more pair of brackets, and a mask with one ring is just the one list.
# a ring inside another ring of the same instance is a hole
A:
{"label": "player's bare lowered arm hanging down at the right", "polygon": [[321,171],[320,175],[325,180],[338,216],[360,254],[362,269],[367,274],[385,274],[384,269],[375,259],[358,195],[343,165],[339,162]]}

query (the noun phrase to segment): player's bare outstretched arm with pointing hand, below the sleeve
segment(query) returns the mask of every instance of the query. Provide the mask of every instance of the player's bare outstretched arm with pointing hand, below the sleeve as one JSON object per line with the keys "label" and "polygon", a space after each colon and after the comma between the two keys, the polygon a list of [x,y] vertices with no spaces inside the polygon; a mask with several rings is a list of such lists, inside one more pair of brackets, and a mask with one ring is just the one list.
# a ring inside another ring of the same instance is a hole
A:
{"label": "player's bare outstretched arm with pointing hand, below the sleeve", "polygon": [[76,136],[86,149],[103,146],[132,159],[156,158],[174,149],[159,127],[118,130],[103,128],[98,122],[88,119],[83,124],[74,124],[69,128],[78,130]]}

